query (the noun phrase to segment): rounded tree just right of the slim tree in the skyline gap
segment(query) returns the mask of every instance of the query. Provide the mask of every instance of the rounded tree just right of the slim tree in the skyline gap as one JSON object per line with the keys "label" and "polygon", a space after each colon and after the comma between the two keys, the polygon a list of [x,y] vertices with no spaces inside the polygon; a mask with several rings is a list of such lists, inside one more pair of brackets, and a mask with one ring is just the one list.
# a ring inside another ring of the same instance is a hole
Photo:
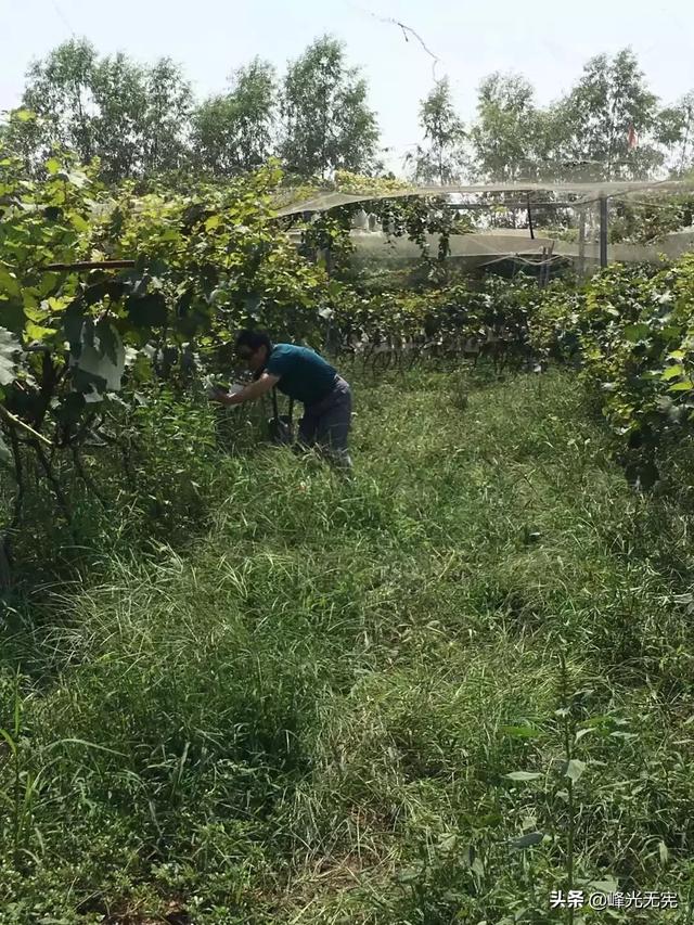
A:
{"label": "rounded tree just right of the slim tree in the skyline gap", "polygon": [[534,97],[519,75],[496,73],[481,82],[471,131],[476,179],[512,182],[537,171],[543,124]]}

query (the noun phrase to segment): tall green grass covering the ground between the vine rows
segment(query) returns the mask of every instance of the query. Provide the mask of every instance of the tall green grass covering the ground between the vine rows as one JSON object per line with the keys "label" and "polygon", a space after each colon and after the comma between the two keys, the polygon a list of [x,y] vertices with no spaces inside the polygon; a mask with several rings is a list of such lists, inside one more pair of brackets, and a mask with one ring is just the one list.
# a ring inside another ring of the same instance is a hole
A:
{"label": "tall green grass covering the ground between the vine rows", "polygon": [[689,516],[570,375],[356,411],[354,484],[218,459],[206,532],[5,614],[0,923],[691,921]]}

